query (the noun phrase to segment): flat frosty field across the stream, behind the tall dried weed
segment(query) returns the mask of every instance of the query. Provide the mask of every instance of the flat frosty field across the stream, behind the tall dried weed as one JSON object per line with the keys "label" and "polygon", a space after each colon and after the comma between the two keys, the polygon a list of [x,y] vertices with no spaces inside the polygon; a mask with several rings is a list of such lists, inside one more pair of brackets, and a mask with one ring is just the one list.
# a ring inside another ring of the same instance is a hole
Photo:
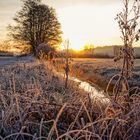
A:
{"label": "flat frosty field across the stream, behind the tall dried weed", "polygon": [[[121,61],[115,63],[113,59],[75,58],[70,64],[70,74],[105,90],[112,76],[120,72],[121,64]],[[58,62],[58,70],[63,67],[63,63]],[[111,83],[110,91],[114,83]],[[135,60],[134,75],[129,83],[140,87],[140,59]]]}

